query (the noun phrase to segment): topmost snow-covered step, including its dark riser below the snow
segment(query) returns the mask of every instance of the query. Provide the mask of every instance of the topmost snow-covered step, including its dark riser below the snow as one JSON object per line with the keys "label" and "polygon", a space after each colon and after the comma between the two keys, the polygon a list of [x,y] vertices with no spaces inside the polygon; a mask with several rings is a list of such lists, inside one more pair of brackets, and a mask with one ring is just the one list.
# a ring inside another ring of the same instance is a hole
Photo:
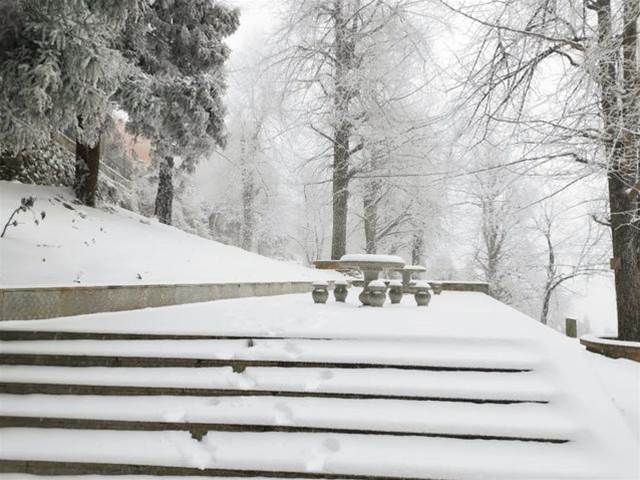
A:
{"label": "topmost snow-covered step, including its dark riser below the snow", "polygon": [[0,342],[0,364],[105,367],[532,370],[531,342],[382,340],[39,340]]}

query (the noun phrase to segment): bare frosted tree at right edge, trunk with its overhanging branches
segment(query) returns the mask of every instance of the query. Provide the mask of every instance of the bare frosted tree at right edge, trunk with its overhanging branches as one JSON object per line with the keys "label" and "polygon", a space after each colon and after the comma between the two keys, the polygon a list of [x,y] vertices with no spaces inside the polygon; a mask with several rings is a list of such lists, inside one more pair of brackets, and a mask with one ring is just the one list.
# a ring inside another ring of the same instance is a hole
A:
{"label": "bare frosted tree at right edge, trunk with its overhanging branches", "polygon": [[[606,175],[618,334],[640,340],[638,0],[621,1],[620,11],[611,0],[441,3],[483,36],[465,98],[484,127],[511,126],[537,145],[540,154],[523,162],[572,162],[571,182],[584,178],[579,168]],[[554,101],[539,108],[549,82]]]}

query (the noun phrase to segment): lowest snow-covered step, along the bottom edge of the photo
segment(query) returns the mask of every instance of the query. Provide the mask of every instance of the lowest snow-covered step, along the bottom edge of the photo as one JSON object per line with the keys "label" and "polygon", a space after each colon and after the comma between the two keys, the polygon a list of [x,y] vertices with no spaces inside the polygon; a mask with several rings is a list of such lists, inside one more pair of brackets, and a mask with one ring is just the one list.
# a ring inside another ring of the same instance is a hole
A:
{"label": "lowest snow-covered step, along the bottom edge of the photo", "polygon": [[0,458],[28,460],[24,467],[34,473],[43,473],[35,462],[55,462],[44,465],[47,473],[615,478],[610,475],[613,465],[608,461],[593,465],[588,455],[597,452],[572,442],[539,443],[532,448],[530,442],[385,435],[210,432],[197,440],[188,432],[175,431],[7,428],[0,433]]}

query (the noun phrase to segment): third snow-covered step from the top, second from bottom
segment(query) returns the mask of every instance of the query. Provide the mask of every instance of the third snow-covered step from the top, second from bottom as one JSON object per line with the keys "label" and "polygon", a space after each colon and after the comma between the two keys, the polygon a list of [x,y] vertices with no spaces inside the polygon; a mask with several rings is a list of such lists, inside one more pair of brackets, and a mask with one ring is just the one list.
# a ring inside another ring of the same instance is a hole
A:
{"label": "third snow-covered step from the top, second from bottom", "polygon": [[0,427],[371,433],[565,442],[547,405],[293,397],[0,395]]}

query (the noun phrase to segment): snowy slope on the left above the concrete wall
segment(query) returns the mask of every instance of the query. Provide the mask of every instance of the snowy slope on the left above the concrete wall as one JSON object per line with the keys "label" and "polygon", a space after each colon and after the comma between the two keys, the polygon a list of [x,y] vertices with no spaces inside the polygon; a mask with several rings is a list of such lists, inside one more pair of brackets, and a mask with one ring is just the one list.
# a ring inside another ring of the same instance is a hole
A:
{"label": "snowy slope on the left above the concrete wall", "polygon": [[[0,239],[0,285],[123,285],[304,281],[326,276],[187,234],[117,207],[77,205],[65,188],[0,182],[4,227],[20,199],[35,197]],[[44,220],[40,220],[41,212]]]}

